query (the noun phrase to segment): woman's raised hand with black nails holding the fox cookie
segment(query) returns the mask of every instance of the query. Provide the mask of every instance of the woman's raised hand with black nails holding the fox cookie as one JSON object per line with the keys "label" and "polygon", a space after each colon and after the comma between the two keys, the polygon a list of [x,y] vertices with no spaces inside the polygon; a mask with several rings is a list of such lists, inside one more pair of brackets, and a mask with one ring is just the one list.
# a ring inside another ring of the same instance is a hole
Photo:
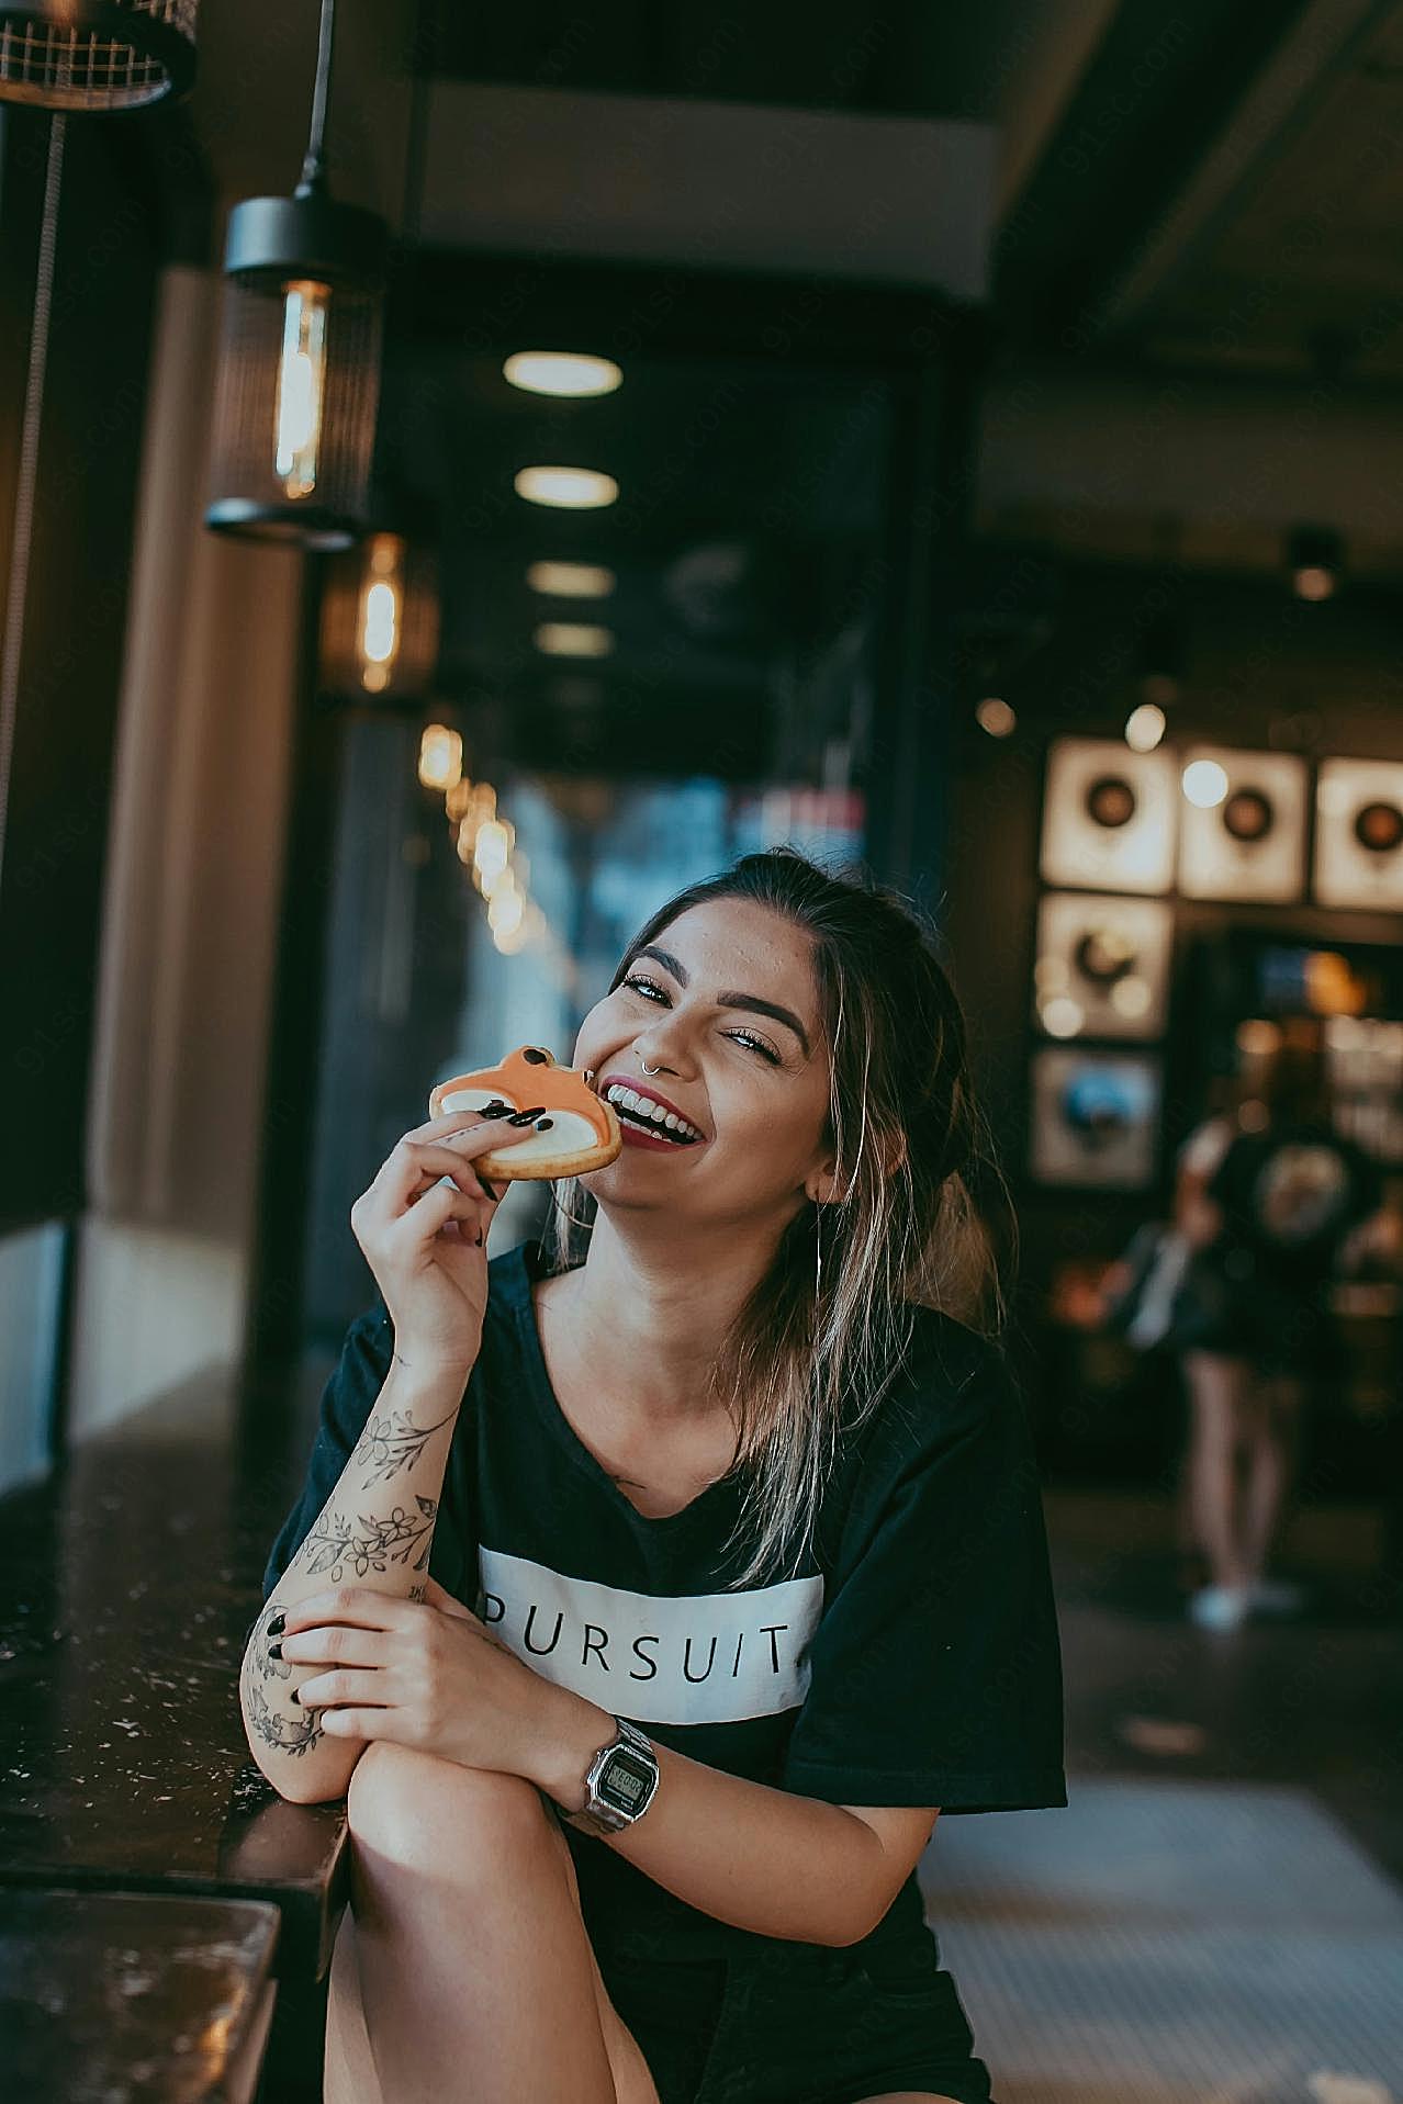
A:
{"label": "woman's raised hand with black nails holding the fox cookie", "polygon": [[414,1374],[467,1380],[477,1361],[499,1193],[473,1161],[530,1130],[446,1111],[406,1132],[351,1206],[351,1233],[395,1326],[395,1361]]}

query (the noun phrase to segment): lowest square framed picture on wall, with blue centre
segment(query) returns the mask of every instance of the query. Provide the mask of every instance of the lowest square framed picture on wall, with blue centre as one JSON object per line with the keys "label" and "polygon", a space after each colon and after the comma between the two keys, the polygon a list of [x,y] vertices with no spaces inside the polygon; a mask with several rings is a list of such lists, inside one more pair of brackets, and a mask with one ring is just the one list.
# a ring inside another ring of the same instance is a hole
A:
{"label": "lowest square framed picture on wall, with blue centre", "polygon": [[1155,1180],[1157,1052],[1043,1046],[1031,1065],[1029,1170],[1045,1185],[1142,1191]]}

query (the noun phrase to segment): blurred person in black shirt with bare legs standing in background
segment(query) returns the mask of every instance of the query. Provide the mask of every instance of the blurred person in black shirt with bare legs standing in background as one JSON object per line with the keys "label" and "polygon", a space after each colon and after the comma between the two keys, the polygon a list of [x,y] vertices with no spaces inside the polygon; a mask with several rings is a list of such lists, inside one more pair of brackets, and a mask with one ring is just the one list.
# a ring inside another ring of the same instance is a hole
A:
{"label": "blurred person in black shirt with bare legs standing in background", "polygon": [[1283,1037],[1254,1094],[1260,1124],[1205,1145],[1180,1187],[1184,1233],[1205,1267],[1188,1273],[1176,1311],[1188,1340],[1186,1475],[1212,1572],[1188,1616],[1203,1628],[1302,1603],[1266,1567],[1310,1382],[1338,1372],[1344,1351],[1329,1281],[1371,1241],[1384,1248],[1390,1227],[1378,1164],[1331,1121],[1319,1031]]}

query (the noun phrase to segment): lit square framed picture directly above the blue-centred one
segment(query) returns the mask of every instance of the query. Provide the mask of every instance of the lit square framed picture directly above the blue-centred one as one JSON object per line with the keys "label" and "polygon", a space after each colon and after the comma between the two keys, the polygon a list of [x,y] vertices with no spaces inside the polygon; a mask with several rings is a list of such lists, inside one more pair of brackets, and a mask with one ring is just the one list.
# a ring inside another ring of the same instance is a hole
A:
{"label": "lit square framed picture directly above the blue-centred one", "polygon": [[1033,1020],[1050,1037],[1163,1037],[1172,940],[1163,898],[1043,892]]}

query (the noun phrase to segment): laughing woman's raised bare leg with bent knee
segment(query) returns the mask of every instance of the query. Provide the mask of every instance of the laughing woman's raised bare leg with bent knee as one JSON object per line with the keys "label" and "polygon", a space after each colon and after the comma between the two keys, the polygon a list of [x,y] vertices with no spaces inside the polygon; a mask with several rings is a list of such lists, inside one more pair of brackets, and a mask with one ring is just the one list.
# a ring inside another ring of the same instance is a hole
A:
{"label": "laughing woman's raised bare leg with bent knee", "polygon": [[[332,1965],[328,2104],[656,2104],[530,1782],[374,1742],[347,1818],[355,1963]],[[334,2089],[362,2032],[377,2087]]]}

